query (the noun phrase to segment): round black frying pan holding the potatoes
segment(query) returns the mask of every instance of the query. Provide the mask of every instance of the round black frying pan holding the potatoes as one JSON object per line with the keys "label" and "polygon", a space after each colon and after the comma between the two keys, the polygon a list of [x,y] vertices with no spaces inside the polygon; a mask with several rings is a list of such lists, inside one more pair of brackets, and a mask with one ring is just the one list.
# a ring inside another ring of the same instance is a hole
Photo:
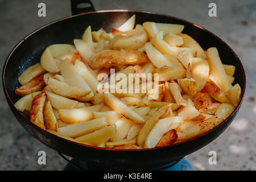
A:
{"label": "round black frying pan holding the potatoes", "polygon": [[[93,11],[94,7],[90,1],[71,2],[73,14],[88,10],[90,12],[56,20],[31,32],[13,48],[3,67],[2,81],[6,100],[16,119],[28,133],[53,150],[87,163],[100,165],[108,169],[150,169],[174,162],[185,155],[199,150],[216,139],[230,125],[240,109],[245,93],[246,78],[240,59],[223,40],[197,24],[175,18],[174,16],[135,10]],[[91,6],[85,9],[77,9],[76,5],[81,2],[87,2]],[[82,33],[89,25],[93,30],[103,27],[106,31],[110,31],[112,27],[118,27],[133,14],[136,15],[136,24],[142,24],[146,21],[184,24],[183,32],[195,38],[203,49],[217,47],[222,62],[236,67],[234,83],[238,83],[241,86],[241,101],[224,122],[207,133],[179,144],[149,149],[113,150],[86,146],[85,144],[57,137],[34,125],[15,109],[14,103],[20,98],[14,93],[14,90],[19,86],[18,76],[25,69],[40,61],[40,55],[45,48],[51,44],[73,44],[73,39],[81,39]]]}

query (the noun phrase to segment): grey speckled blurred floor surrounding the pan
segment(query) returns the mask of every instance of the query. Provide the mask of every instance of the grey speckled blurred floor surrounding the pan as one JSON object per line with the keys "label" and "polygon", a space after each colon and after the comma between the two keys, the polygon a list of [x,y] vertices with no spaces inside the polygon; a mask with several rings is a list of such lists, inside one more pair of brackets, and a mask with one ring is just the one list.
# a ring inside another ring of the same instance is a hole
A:
{"label": "grey speckled blurred floor surrounding the pan", "polygon": [[[37,15],[38,3],[47,6],[46,18]],[[98,1],[96,10],[135,9],[177,16],[199,24],[220,36],[242,60],[247,75],[247,90],[243,105],[232,125],[214,142],[187,159],[200,170],[256,169],[256,1]],[[208,16],[210,2],[217,4],[217,17]],[[70,2],[50,0],[0,1],[0,68],[11,49],[35,28],[71,15]],[[2,76],[2,75],[1,75]],[[0,77],[1,77],[0,76]],[[2,79],[2,78],[1,78]],[[15,120],[0,86],[0,169],[61,170],[65,161],[55,151],[31,137]],[[47,164],[37,163],[38,151],[46,151]],[[217,165],[208,164],[208,152],[217,152]]]}

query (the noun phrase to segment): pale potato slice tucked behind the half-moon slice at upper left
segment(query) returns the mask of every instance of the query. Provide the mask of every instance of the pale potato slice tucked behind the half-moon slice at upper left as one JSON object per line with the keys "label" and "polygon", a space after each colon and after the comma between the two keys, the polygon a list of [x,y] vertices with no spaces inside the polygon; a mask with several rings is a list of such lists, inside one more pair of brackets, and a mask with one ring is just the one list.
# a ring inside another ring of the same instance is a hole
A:
{"label": "pale potato slice tucked behind the half-moon slice at upper left", "polygon": [[48,48],[53,58],[71,55],[73,52],[76,52],[75,46],[71,44],[53,44]]}

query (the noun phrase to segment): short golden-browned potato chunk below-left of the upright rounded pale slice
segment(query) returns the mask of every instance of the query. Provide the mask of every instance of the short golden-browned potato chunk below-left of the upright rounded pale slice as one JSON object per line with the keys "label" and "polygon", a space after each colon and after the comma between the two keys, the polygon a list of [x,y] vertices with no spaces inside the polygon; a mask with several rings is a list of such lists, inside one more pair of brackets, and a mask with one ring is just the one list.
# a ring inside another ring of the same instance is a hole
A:
{"label": "short golden-browned potato chunk below-left of the upright rounded pale slice", "polygon": [[195,96],[197,93],[196,81],[193,78],[178,79],[177,82],[185,93],[191,94],[192,96]]}

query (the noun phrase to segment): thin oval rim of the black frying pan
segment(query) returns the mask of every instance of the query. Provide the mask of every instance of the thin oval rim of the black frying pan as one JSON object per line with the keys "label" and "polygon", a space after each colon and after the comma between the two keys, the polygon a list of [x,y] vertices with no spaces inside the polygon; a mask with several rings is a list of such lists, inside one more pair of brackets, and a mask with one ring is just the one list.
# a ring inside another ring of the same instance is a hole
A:
{"label": "thin oval rim of the black frying pan", "polygon": [[[49,133],[48,131],[46,130],[43,130],[41,129],[40,127],[36,126],[34,123],[33,126],[34,127],[37,127],[37,129],[39,130],[42,130],[42,131],[45,131],[47,132],[48,134],[54,136],[54,137],[57,137],[59,139],[62,139],[62,140],[66,140],[67,142],[71,142],[71,143],[74,143],[74,144],[79,144],[80,146],[85,146],[85,147],[90,147],[90,148],[96,148],[96,149],[100,149],[100,150],[108,150],[108,151],[148,151],[148,150],[157,150],[157,149],[160,149],[160,148],[167,148],[167,147],[171,147],[171,146],[177,146],[179,144],[184,144],[184,143],[187,143],[187,142],[190,142],[192,140],[195,140],[197,138],[200,138],[200,137],[203,137],[204,135],[207,135],[208,133],[210,133],[211,131],[217,129],[218,127],[220,127],[221,125],[223,125],[225,122],[227,122],[229,120],[230,117],[232,117],[234,115],[234,113],[236,113],[236,111],[238,109],[240,109],[240,106],[242,104],[242,101],[243,101],[243,98],[245,96],[245,89],[246,89],[246,75],[245,75],[245,69],[243,68],[243,65],[241,63],[241,60],[239,59],[239,57],[236,55],[236,53],[233,51],[232,48],[230,48],[228,46],[228,44],[226,44],[221,38],[219,38],[217,35],[213,34],[212,32],[208,31],[207,29],[199,26],[198,24],[195,24],[195,23],[192,23],[192,22],[189,22],[187,20],[184,20],[184,19],[181,19],[181,18],[177,18],[175,16],[171,16],[171,15],[166,15],[166,14],[162,14],[162,13],[156,13],[156,12],[153,12],[153,11],[143,11],[143,10],[127,10],[127,9],[113,9],[113,10],[99,10],[99,11],[89,11],[89,12],[86,12],[86,13],[81,13],[81,14],[77,14],[77,15],[71,15],[71,16],[66,16],[64,18],[60,18],[60,19],[57,19],[57,20],[54,20],[53,22],[50,22],[50,23],[47,23],[47,24],[44,24],[43,26],[39,27],[39,28],[36,28],[36,30],[30,32],[30,34],[28,34],[27,36],[25,36],[22,40],[20,40],[16,45],[15,47],[11,50],[11,52],[9,53],[9,55],[7,56],[7,59],[5,60],[5,64],[3,65],[3,71],[2,71],[2,84],[3,84],[3,90],[4,90],[4,93],[5,93],[5,96],[6,96],[6,100],[7,102],[9,102],[13,107],[14,107],[14,103],[13,101],[11,101],[10,97],[9,97],[9,94],[7,93],[7,89],[6,89],[6,84],[5,84],[5,71],[6,71],[6,66],[9,62],[9,59],[11,57],[11,55],[13,55],[14,51],[16,48],[19,47],[20,44],[23,43],[24,40],[26,40],[27,38],[29,38],[30,36],[32,36],[33,34],[35,34],[36,32],[42,30],[43,28],[45,27],[48,27],[50,26],[51,24],[54,24],[54,23],[57,23],[57,22],[61,22],[62,20],[65,20],[65,19],[69,19],[69,18],[73,18],[73,17],[76,17],[76,16],[82,16],[82,15],[86,15],[86,14],[96,14],[96,13],[112,13],[112,12],[134,12],[134,13],[145,13],[145,14],[155,14],[155,15],[160,15],[160,16],[167,16],[168,18],[172,18],[172,19],[176,19],[176,20],[180,20],[181,22],[185,22],[185,23],[188,23],[188,24],[191,24],[192,26],[196,26],[197,28],[200,28],[201,30],[203,31],[206,31],[208,32],[208,34],[214,36],[216,39],[218,39],[222,44],[224,44],[225,47],[227,47],[231,52],[232,54],[236,57],[238,63],[240,64],[240,67],[242,69],[242,73],[243,73],[243,92],[241,94],[241,100],[240,102],[238,103],[238,105],[236,106],[236,108],[233,110],[233,112],[229,115],[228,118],[226,118],[223,122],[221,122],[219,125],[213,127],[211,130],[208,130],[207,132],[203,133],[203,134],[200,134],[200,135],[197,135],[196,137],[193,137],[191,139],[188,139],[188,140],[184,140],[183,142],[179,142],[179,143],[174,143],[174,144],[170,144],[170,145],[167,145],[167,146],[163,146],[163,147],[155,147],[155,148],[138,148],[138,149],[132,149],[132,150],[126,150],[126,149],[113,149],[113,148],[102,148],[102,147],[95,147],[95,146],[89,146],[89,145],[86,145],[86,144],[82,144],[82,143],[78,143],[78,142],[74,142],[72,140],[68,140],[68,139],[65,139],[65,138],[61,138],[57,135],[54,135],[52,133]],[[15,108],[15,107],[14,107]],[[18,111],[18,110],[16,110]],[[20,115],[22,115],[22,117],[24,119],[26,119],[28,122],[30,122],[29,119],[27,119],[20,111],[18,111]],[[18,120],[18,119],[17,119]],[[31,122],[30,122],[31,123]],[[34,137],[34,136],[33,136]]]}

